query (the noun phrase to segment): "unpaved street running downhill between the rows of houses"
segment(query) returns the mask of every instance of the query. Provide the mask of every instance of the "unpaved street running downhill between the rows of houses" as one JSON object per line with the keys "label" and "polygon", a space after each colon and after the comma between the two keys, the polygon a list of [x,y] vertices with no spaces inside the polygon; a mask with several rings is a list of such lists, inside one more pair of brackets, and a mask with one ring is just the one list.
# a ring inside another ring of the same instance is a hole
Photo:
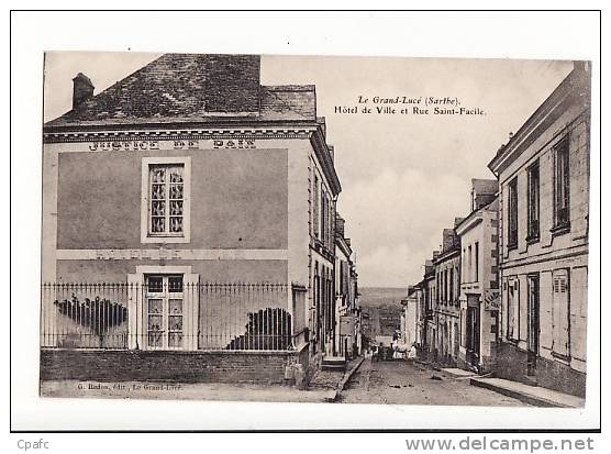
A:
{"label": "unpaved street running downhill between the rows of houses", "polygon": [[367,358],[352,377],[338,401],[438,406],[524,407],[498,392],[477,388],[469,380],[406,361],[371,363]]}

